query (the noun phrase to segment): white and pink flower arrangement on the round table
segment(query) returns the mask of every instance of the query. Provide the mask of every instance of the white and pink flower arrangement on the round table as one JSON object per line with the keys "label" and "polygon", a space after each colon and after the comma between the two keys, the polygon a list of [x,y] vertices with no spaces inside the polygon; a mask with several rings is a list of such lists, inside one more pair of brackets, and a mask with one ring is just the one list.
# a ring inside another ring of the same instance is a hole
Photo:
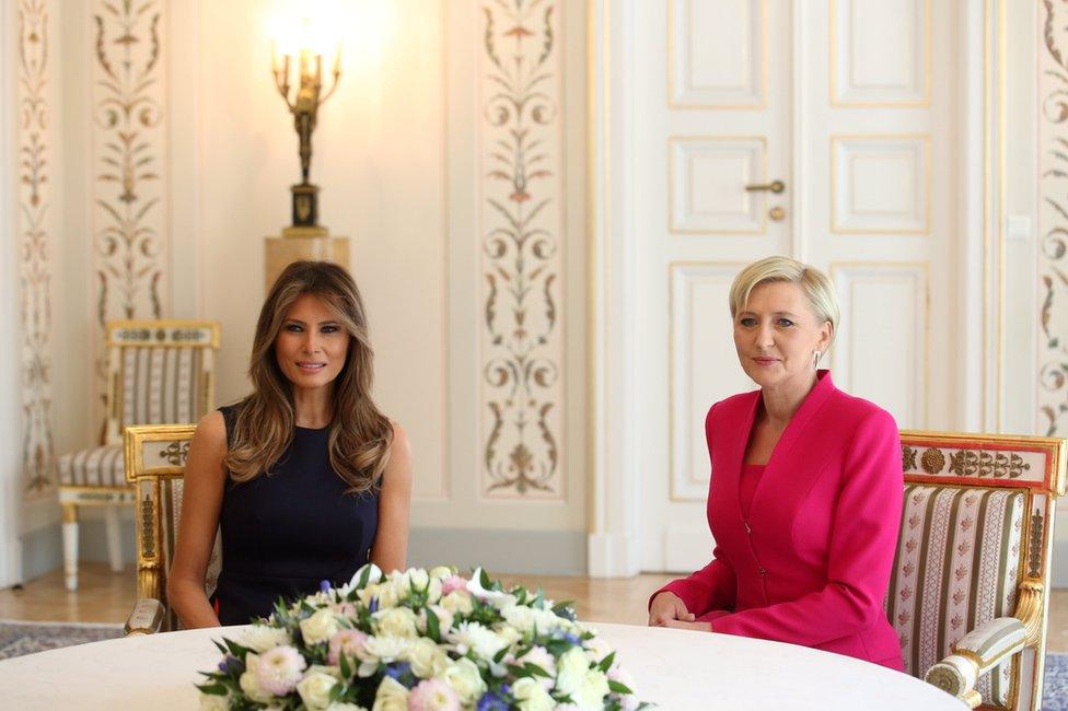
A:
{"label": "white and pink flower arrangement on the round table", "polygon": [[476,569],[364,566],[338,588],[291,604],[236,640],[216,642],[201,672],[204,709],[307,711],[632,711],[615,652],[554,605]]}

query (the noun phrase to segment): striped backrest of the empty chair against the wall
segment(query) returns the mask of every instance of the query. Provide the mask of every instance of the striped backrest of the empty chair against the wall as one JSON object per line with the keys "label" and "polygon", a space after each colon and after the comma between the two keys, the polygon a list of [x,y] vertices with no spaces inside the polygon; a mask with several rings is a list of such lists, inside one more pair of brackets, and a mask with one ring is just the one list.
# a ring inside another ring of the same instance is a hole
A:
{"label": "striped backrest of the empty chair against the wall", "polygon": [[121,444],[131,424],[199,420],[213,401],[218,348],[214,322],[109,322],[103,444]]}

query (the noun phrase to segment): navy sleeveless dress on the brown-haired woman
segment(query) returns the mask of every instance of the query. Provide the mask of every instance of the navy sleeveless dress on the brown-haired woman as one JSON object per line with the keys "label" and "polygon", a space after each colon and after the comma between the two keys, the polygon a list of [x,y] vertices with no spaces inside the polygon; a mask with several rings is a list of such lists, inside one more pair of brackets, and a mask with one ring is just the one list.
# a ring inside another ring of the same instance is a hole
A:
{"label": "navy sleeveless dress on the brown-haired woman", "polygon": [[[219,408],[233,442],[237,406]],[[330,466],[329,428],[297,428],[271,474],[227,481],[219,524],[222,571],[213,603],[222,625],[246,625],[290,599],[349,581],[379,527],[378,492],[345,493]]]}

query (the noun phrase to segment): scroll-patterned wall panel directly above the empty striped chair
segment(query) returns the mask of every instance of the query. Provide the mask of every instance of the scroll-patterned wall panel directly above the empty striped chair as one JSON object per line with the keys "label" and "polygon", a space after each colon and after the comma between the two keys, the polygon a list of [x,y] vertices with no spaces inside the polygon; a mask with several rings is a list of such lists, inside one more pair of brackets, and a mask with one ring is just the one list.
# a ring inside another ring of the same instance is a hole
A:
{"label": "scroll-patterned wall panel directly above the empty striped chair", "polygon": [[[164,11],[161,0],[92,3],[93,313],[101,336],[107,320],[169,311]],[[103,368],[101,360],[101,375]]]}

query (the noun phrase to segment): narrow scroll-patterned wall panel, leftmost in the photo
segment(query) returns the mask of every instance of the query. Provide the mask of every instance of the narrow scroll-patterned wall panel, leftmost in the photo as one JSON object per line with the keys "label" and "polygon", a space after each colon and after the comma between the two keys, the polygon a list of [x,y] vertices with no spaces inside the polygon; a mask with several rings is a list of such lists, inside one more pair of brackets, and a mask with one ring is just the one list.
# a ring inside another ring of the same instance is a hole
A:
{"label": "narrow scroll-patterned wall panel, leftmost in the photo", "polygon": [[47,0],[19,2],[18,240],[22,320],[23,493],[34,498],[55,486],[51,471],[51,201],[53,108],[49,85]]}

